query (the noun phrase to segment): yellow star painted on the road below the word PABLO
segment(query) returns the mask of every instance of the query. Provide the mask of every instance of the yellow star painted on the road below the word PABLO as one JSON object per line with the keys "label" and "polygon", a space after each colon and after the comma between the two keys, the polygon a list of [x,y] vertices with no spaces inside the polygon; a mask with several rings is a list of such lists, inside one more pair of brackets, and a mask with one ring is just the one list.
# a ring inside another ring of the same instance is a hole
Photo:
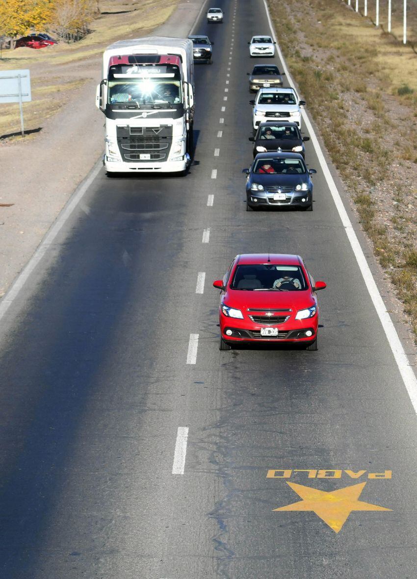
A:
{"label": "yellow star painted on the road below the word PABLO", "polygon": [[287,482],[287,484],[303,500],[273,510],[313,511],[335,533],[340,531],[352,511],[391,511],[390,508],[378,507],[378,505],[358,500],[366,482],[345,486],[343,489],[331,490],[329,493],[324,490],[312,489],[310,486],[296,485],[294,482]]}

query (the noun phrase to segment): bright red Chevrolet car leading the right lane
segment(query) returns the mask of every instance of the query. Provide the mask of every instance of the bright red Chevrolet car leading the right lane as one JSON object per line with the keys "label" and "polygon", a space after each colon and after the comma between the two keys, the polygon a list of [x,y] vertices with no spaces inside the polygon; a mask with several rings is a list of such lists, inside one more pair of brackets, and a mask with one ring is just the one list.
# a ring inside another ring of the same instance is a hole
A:
{"label": "bright red Chevrolet car leading the right lane", "polygon": [[300,343],[317,350],[314,281],[299,255],[237,255],[222,280],[214,281],[220,296],[220,350],[255,342]]}

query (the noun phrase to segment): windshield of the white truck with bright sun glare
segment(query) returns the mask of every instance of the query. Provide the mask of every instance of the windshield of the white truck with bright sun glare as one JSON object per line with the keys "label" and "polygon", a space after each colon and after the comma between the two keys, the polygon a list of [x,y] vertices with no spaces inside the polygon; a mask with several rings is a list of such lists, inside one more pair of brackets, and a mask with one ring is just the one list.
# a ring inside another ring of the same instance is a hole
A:
{"label": "windshield of the white truck with bright sun glare", "polygon": [[136,102],[139,105],[168,102],[171,105],[183,101],[180,82],[135,78],[126,82],[114,80],[108,83],[109,104]]}

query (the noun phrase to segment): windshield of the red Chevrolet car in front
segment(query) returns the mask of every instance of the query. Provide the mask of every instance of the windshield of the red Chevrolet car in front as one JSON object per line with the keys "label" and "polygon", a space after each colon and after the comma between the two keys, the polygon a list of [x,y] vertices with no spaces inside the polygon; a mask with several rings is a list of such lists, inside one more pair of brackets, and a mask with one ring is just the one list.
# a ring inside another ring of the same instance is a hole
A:
{"label": "windshield of the red Chevrolet car in front", "polygon": [[238,265],[234,271],[232,290],[303,291],[308,289],[303,270],[297,265]]}

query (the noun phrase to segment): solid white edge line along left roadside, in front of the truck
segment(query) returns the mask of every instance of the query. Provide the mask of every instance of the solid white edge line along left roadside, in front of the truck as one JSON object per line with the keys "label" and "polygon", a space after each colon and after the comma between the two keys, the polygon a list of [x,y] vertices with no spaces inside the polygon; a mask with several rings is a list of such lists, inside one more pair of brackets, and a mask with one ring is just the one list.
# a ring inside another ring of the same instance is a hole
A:
{"label": "solid white edge line along left roadside, in front of the truck", "polygon": [[47,250],[49,250],[58,233],[64,226],[66,220],[72,215],[72,212],[80,203],[80,200],[84,196],[85,192],[90,187],[90,185],[92,184],[92,182],[94,181],[100,170],[102,170],[102,167],[103,163],[100,160],[93,168],[90,175],[88,175],[88,177],[79,185],[79,187],[77,187],[72,197],[70,197],[68,204],[66,204],[64,209],[59,213],[57,220],[53,223],[49,231],[46,233],[43,240],[40,242],[39,247],[36,249],[31,259],[29,259],[29,262],[24,267],[21,274],[17,276],[16,280],[14,280],[14,283],[10,286],[9,291],[6,292],[6,294],[3,296],[0,302],[0,320],[5,315],[9,307],[12,305],[14,300],[17,298],[19,292],[21,291],[24,284],[28,280],[28,277],[31,275],[35,267],[38,265],[40,260],[46,254]]}

